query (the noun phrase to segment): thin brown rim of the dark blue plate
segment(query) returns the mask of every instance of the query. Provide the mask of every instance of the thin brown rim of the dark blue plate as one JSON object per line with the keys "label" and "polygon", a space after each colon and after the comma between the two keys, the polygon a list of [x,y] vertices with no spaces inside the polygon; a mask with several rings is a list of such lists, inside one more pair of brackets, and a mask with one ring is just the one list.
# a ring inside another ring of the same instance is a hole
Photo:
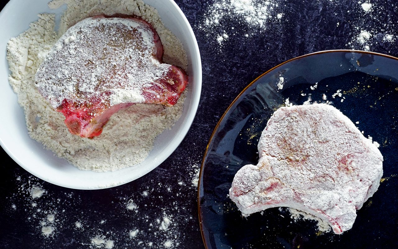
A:
{"label": "thin brown rim of the dark blue plate", "polygon": [[203,165],[205,163],[205,158],[207,156],[207,153],[209,152],[209,146],[210,146],[210,142],[213,139],[213,136],[215,135],[217,129],[220,126],[221,120],[224,118],[224,116],[226,115],[226,113],[230,110],[230,108],[232,108],[232,106],[235,104],[236,101],[238,101],[238,99],[240,98],[240,96],[242,96],[242,94],[244,94],[244,92],[250,87],[252,86],[257,80],[259,80],[262,76],[266,75],[267,73],[273,71],[274,69],[289,63],[291,61],[295,61],[297,59],[301,59],[304,57],[309,57],[311,55],[319,55],[319,54],[325,54],[325,53],[335,53],[335,52],[345,52],[345,53],[363,53],[363,54],[369,54],[369,55],[378,55],[378,56],[382,56],[382,57],[387,57],[389,59],[394,59],[398,61],[398,57],[394,57],[391,55],[385,55],[382,53],[377,53],[377,52],[371,52],[371,51],[361,51],[361,50],[353,50],[353,49],[332,49],[332,50],[324,50],[324,51],[318,51],[318,52],[314,52],[314,53],[308,53],[305,55],[300,55],[297,57],[294,57],[292,59],[289,59],[287,61],[284,61],[278,65],[276,65],[275,67],[272,67],[271,69],[265,71],[265,73],[261,74],[260,76],[258,76],[257,78],[255,78],[252,82],[250,82],[239,94],[238,96],[236,96],[236,98],[231,102],[231,104],[228,106],[228,108],[226,108],[225,112],[222,114],[221,118],[219,119],[219,121],[217,122],[217,125],[215,126],[213,132],[210,135],[209,138],[209,142],[207,143],[206,146],[206,150],[205,153],[203,154],[202,157],[202,162],[201,162],[201,166],[200,166],[200,171],[199,171],[199,178],[198,178],[198,186],[197,186],[197,210],[198,210],[198,221],[199,221],[199,227],[200,227],[200,231],[201,231],[201,235],[202,235],[202,241],[203,241],[203,245],[205,246],[205,249],[209,249],[207,243],[206,243],[206,239],[205,239],[205,233],[204,233],[204,229],[203,229],[203,223],[202,223],[202,216],[201,216],[201,202],[200,202],[200,191],[201,191],[201,178],[202,178],[202,173],[203,173]]}

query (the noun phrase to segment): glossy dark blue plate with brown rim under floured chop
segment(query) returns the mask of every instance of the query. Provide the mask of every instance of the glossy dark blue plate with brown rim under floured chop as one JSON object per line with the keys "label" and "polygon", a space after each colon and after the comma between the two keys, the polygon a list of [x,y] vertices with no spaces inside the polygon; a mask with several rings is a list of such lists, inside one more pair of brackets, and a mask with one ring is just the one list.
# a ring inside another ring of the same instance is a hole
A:
{"label": "glossy dark blue plate with brown rim under floured chop", "polygon": [[[277,86],[280,77],[284,78],[282,89]],[[377,192],[358,210],[352,229],[341,235],[319,233],[314,221],[294,221],[286,208],[243,218],[228,190],[242,166],[257,164],[257,143],[268,119],[287,98],[293,104],[302,104],[309,96],[312,102],[326,102],[323,94],[353,122],[359,122],[357,127],[366,137],[380,143],[384,175]],[[323,51],[264,73],[226,110],[203,158],[198,204],[206,248],[398,248],[397,123],[397,58],[362,51]]]}

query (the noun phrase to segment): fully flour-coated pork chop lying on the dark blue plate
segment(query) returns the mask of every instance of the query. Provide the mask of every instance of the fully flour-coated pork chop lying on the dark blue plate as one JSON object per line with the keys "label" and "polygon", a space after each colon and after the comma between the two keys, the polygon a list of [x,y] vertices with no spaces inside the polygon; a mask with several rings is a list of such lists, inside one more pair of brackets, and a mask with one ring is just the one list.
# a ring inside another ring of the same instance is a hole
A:
{"label": "fully flour-coated pork chop lying on the dark blue plate", "polygon": [[383,157],[333,106],[279,108],[261,134],[259,162],[235,175],[230,198],[243,214],[289,207],[350,229],[376,192]]}

